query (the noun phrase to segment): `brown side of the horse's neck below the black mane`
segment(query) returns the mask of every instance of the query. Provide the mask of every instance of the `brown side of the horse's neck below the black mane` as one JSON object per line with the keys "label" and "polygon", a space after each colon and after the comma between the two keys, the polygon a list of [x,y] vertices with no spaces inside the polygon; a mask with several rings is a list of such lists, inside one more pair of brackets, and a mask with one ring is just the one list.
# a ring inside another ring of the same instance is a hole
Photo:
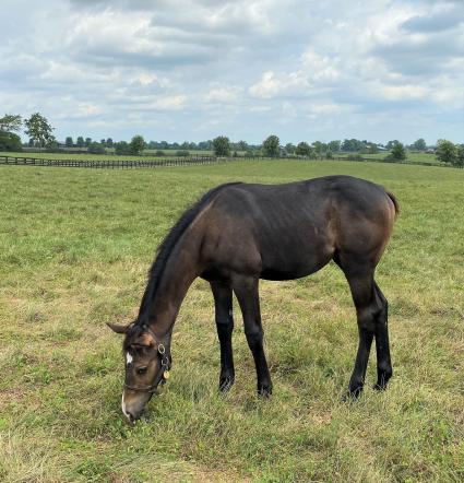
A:
{"label": "brown side of the horse's neck below the black mane", "polygon": [[[153,299],[144,301],[139,318],[143,319],[160,342],[169,344],[176,317],[187,291],[201,273],[198,237],[183,236],[166,261],[158,288]],[[144,298],[146,295],[144,296]]]}

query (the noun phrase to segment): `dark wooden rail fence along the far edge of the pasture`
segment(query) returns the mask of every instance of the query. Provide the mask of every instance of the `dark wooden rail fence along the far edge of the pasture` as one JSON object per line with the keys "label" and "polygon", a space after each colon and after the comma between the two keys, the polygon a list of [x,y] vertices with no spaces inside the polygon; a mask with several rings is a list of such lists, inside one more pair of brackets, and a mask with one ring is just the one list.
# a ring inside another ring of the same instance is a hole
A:
{"label": "dark wooden rail fence along the far edge of the pasture", "polygon": [[[287,160],[296,161],[312,161],[320,162],[322,158],[310,158],[305,156],[286,156]],[[163,160],[48,160],[41,157],[29,156],[0,156],[0,165],[10,166],[61,166],[61,167],[81,167],[95,169],[136,169],[136,168],[154,168],[164,166],[189,166],[201,164],[227,163],[230,161],[272,161],[270,157],[262,156],[236,156],[236,157],[215,157],[194,155],[189,157],[171,157]],[[394,160],[379,160],[362,156],[332,156],[328,161],[352,161],[366,163],[396,163],[409,164],[418,166],[439,166],[451,167],[440,163],[423,162],[423,161],[394,161]]]}

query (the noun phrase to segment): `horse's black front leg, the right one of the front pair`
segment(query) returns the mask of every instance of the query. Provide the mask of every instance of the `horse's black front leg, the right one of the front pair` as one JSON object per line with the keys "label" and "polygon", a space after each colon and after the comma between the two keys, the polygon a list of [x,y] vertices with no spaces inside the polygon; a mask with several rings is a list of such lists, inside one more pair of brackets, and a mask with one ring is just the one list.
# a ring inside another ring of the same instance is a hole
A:
{"label": "horse's black front leg, the right one of the front pair", "polygon": [[258,279],[243,275],[235,276],[233,279],[233,288],[243,316],[248,346],[254,358],[258,393],[259,396],[269,397],[272,394],[272,382],[263,347],[264,332],[261,326]]}

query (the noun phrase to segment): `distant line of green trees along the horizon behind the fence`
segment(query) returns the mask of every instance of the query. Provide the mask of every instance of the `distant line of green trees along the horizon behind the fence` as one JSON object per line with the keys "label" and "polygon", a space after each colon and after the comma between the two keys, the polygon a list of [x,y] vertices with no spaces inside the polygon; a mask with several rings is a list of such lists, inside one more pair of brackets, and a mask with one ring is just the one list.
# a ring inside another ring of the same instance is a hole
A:
{"label": "distant line of green trees along the horizon behind the fence", "polygon": [[[164,155],[165,150],[175,150],[178,156],[188,156],[190,151],[213,151],[216,156],[230,156],[245,153],[249,156],[262,155],[266,157],[282,157],[288,155],[304,156],[309,158],[331,158],[336,153],[377,154],[388,152],[386,160],[404,161],[407,158],[407,150],[419,152],[432,151],[438,161],[454,166],[464,166],[464,144],[454,144],[448,140],[438,140],[433,146],[428,146],[420,138],[413,144],[405,146],[397,140],[386,144],[376,143],[368,140],[345,139],[330,142],[314,141],[309,143],[300,141],[298,144],[281,144],[277,136],[269,136],[261,144],[248,144],[246,141],[231,142],[226,136],[218,136],[213,140],[199,143],[185,141],[183,143],[169,143],[167,141],[148,141],[140,134],[135,134],[130,142],[115,142],[111,138],[94,141],[92,138],[79,136],[74,142],[71,136],[60,144],[53,136],[55,128],[40,113],[34,113],[23,119],[20,115],[5,114],[0,118],[0,151],[21,151],[22,142],[17,132],[24,130],[28,137],[28,148],[47,149],[56,151],[61,148],[82,149],[93,154],[104,154],[111,150],[116,154],[140,155],[145,150],[156,151],[155,155]],[[348,156],[349,157],[349,156]],[[353,157],[353,156],[352,156]],[[354,157],[353,157],[354,158]]]}

